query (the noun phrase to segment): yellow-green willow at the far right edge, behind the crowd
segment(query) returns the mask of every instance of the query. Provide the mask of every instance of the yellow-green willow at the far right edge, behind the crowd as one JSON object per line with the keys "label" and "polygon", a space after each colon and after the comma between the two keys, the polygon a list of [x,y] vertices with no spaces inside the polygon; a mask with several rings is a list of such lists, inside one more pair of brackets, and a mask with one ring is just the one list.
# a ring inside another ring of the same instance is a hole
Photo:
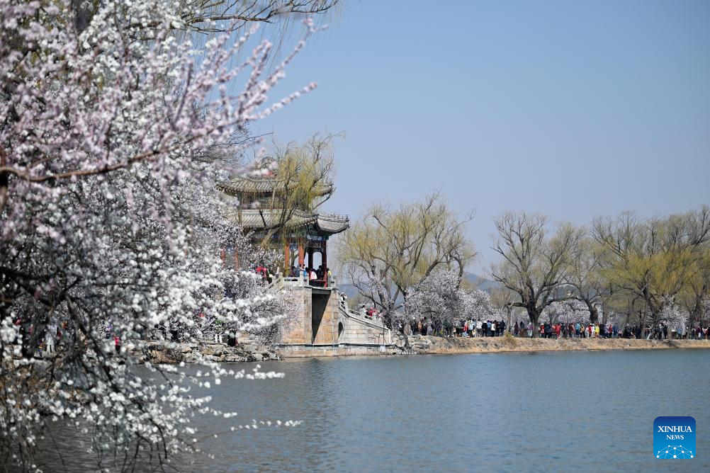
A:
{"label": "yellow-green willow at the far right edge, behind the crowd", "polygon": [[648,220],[633,212],[598,217],[591,233],[607,250],[604,276],[643,299],[652,323],[659,323],[666,302],[698,274],[710,238],[710,208]]}

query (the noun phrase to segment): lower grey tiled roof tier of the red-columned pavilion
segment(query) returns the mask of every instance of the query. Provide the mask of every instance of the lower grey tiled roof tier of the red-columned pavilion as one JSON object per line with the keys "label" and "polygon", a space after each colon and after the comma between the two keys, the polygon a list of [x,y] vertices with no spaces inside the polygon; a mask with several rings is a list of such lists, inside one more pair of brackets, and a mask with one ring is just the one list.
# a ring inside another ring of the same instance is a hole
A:
{"label": "lower grey tiled roof tier of the red-columned pavilion", "polygon": [[[265,230],[280,226],[284,213],[280,209],[245,208],[234,214],[235,220],[245,230]],[[310,230],[325,235],[334,235],[350,228],[350,219],[331,213],[310,213],[295,210],[284,224],[284,228],[295,230],[310,227]]]}

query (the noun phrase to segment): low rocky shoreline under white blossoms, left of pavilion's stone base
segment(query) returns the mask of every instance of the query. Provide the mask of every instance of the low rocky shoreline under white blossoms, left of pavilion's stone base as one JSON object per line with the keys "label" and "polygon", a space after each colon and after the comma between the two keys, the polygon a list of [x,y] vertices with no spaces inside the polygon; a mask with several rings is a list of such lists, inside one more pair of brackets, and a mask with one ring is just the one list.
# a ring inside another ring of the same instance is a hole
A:
{"label": "low rocky shoreline under white blossoms, left of pavilion's stone base", "polygon": [[229,347],[224,343],[160,343],[149,342],[140,353],[141,362],[194,363],[200,359],[210,362],[258,362],[280,360],[271,349],[240,344]]}

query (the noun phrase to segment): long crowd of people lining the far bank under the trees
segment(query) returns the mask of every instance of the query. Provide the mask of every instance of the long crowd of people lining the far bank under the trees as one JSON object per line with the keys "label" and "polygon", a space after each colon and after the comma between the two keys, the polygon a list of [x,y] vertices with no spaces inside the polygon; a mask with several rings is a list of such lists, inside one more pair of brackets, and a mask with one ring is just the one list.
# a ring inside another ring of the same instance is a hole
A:
{"label": "long crowd of people lining the far bank under the trees", "polygon": [[[400,331],[407,335],[434,335],[441,337],[500,337],[506,334],[506,322],[497,320],[438,321],[420,318],[414,323],[403,323]],[[645,340],[668,340],[683,338],[689,340],[710,340],[709,324],[696,326],[677,332],[665,323],[642,328],[640,325],[626,325],[623,329],[616,323],[540,323],[516,321],[508,327],[508,333],[525,338],[635,338]]]}

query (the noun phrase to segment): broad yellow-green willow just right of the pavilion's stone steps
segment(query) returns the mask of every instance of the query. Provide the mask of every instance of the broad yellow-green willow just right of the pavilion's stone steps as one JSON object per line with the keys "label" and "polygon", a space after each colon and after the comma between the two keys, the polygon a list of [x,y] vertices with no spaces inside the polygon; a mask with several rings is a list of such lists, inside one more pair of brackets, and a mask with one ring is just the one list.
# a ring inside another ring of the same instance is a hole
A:
{"label": "broad yellow-green willow just right of the pavilion's stone steps", "polygon": [[476,257],[465,235],[472,219],[459,218],[439,193],[397,208],[375,204],[345,233],[339,257],[361,297],[391,322],[410,289],[435,270],[454,269],[461,284]]}

